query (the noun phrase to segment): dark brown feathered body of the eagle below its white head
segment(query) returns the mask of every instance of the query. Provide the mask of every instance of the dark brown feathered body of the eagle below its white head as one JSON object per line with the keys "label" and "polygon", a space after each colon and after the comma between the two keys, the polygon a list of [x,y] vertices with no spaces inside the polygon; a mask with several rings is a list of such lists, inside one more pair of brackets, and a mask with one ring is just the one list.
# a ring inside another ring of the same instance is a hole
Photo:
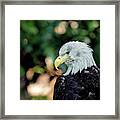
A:
{"label": "dark brown feathered body of the eagle below its white head", "polygon": [[92,66],[75,75],[61,76],[54,86],[54,100],[99,100],[100,71]]}

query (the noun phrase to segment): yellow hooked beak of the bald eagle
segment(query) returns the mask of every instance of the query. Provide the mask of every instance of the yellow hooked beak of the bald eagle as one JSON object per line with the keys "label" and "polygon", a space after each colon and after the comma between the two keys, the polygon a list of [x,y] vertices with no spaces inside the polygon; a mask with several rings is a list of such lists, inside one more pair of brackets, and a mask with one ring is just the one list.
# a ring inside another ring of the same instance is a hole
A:
{"label": "yellow hooked beak of the bald eagle", "polygon": [[58,67],[63,64],[64,62],[66,62],[67,60],[69,60],[69,55],[68,54],[65,54],[63,56],[58,56],[55,60],[55,68],[58,70]]}

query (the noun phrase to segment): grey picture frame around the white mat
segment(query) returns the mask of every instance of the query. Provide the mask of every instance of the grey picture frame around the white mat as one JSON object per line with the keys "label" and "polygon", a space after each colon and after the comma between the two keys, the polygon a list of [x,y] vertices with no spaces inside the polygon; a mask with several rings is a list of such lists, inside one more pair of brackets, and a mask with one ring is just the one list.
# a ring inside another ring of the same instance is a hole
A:
{"label": "grey picture frame around the white mat", "polygon": [[[5,5],[115,5],[115,115],[5,115]],[[1,11],[0,119],[119,119],[119,0],[2,1]]]}

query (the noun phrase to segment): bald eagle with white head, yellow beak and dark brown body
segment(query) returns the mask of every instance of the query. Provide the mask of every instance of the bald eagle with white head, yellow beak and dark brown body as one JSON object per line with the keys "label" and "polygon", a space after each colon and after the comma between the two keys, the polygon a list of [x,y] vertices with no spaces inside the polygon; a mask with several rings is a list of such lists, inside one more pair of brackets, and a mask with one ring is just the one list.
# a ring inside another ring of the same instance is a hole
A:
{"label": "bald eagle with white head, yellow beak and dark brown body", "polygon": [[97,67],[93,50],[83,42],[65,43],[55,60],[58,70],[63,63],[66,72],[60,76],[54,86],[54,100],[99,100],[100,70]]}

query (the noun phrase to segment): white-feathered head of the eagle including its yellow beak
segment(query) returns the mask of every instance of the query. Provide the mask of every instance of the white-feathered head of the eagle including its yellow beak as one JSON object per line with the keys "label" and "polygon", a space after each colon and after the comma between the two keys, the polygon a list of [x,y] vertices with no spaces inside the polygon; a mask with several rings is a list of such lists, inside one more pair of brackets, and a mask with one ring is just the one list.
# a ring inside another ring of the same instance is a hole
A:
{"label": "white-feathered head of the eagle including its yellow beak", "polygon": [[59,56],[55,60],[55,68],[65,63],[67,70],[63,74],[76,74],[87,67],[96,66],[92,55],[93,50],[83,42],[72,41],[65,43],[59,50]]}

